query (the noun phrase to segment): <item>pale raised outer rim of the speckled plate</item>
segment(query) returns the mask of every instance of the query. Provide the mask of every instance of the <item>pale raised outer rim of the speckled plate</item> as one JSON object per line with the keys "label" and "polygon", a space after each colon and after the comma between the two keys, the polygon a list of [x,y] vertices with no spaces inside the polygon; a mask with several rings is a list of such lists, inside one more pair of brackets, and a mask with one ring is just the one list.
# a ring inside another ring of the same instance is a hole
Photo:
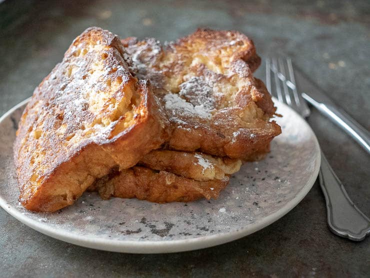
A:
{"label": "pale raised outer rim of the speckled plate", "polygon": [[[20,106],[24,105],[29,101],[31,97],[24,99],[23,101],[19,102],[18,104],[11,107],[8,111],[6,111],[0,117],[0,123],[7,118],[10,114],[12,114],[16,109]],[[272,97],[274,102],[278,102],[274,97]],[[22,222],[23,224],[29,226],[30,228],[37,230],[43,234],[51,236],[53,238],[72,243],[75,245],[99,249],[104,251],[114,251],[114,252],[125,252],[125,253],[171,253],[171,252],[182,252],[182,251],[189,251],[189,250],[196,250],[207,248],[219,244],[223,244],[246,235],[249,235],[253,232],[256,232],[269,224],[277,221],[286,213],[288,213],[291,209],[293,209],[309,192],[312,188],[320,168],[320,148],[318,144],[318,140],[316,138],[315,133],[313,132],[312,128],[309,124],[291,107],[288,105],[278,102],[279,105],[284,106],[284,108],[289,109],[292,113],[296,116],[300,117],[306,127],[312,132],[314,145],[315,145],[315,167],[312,171],[312,174],[309,180],[304,184],[301,190],[288,202],[286,202],[281,208],[274,211],[273,213],[251,223],[247,226],[241,227],[240,229],[228,231],[228,232],[221,232],[212,235],[204,235],[199,237],[193,238],[186,238],[186,239],[169,239],[169,240],[158,240],[158,241],[149,241],[149,240],[119,240],[119,239],[106,239],[106,238],[99,238],[99,237],[86,237],[83,235],[76,235],[73,232],[68,231],[61,231],[57,228],[50,227],[49,225],[38,222],[28,216],[23,215],[19,212],[15,207],[8,204],[5,199],[0,195],[0,206],[11,216],[13,216],[18,221]]]}

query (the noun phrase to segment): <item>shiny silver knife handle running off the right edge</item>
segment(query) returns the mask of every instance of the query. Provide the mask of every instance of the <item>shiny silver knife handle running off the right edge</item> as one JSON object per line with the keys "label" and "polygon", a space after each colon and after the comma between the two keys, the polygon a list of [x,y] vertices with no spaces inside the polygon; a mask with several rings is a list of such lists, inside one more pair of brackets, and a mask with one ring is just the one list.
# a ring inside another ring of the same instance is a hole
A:
{"label": "shiny silver knife handle running off the right edge", "polygon": [[363,128],[350,115],[335,108],[333,105],[317,102],[304,92],[302,93],[302,97],[341,127],[370,154],[370,132]]}

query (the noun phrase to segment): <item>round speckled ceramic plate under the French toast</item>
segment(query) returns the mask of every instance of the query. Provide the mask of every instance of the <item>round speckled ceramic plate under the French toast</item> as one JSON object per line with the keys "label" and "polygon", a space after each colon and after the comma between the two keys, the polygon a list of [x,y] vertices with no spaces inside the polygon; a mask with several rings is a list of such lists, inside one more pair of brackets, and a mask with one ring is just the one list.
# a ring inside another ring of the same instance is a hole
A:
{"label": "round speckled ceramic plate under the French toast", "polygon": [[[15,129],[26,100],[0,119],[0,205],[24,224],[81,246],[132,253],[199,249],[255,232],[292,209],[319,169],[317,139],[288,106],[276,103],[282,134],[263,161],[245,163],[217,200],[156,204],[137,199],[101,200],[84,193],[54,213],[34,213],[17,201],[12,161]],[[303,219],[302,219],[303,221]]]}

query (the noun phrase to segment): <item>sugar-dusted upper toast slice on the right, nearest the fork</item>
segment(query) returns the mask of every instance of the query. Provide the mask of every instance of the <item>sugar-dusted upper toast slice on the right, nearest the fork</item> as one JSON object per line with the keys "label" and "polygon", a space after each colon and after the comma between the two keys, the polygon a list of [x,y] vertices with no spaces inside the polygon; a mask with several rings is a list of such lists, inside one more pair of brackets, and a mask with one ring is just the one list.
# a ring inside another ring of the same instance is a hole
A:
{"label": "sugar-dusted upper toast slice on the right, nearest the fork", "polygon": [[148,38],[122,40],[131,72],[149,79],[171,124],[168,148],[253,160],[281,132],[263,82],[260,58],[236,31],[199,29],[161,46]]}

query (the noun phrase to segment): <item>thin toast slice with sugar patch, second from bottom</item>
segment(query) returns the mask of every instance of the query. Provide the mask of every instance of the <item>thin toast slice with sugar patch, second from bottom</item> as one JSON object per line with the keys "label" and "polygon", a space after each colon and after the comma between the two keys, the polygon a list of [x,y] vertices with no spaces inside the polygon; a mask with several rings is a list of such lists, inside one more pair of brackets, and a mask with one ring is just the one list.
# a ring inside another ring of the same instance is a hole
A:
{"label": "thin toast slice with sugar patch, second from bottom", "polygon": [[214,157],[201,152],[184,152],[158,149],[144,155],[139,165],[164,170],[195,180],[223,179],[240,169],[241,160],[228,157]]}

